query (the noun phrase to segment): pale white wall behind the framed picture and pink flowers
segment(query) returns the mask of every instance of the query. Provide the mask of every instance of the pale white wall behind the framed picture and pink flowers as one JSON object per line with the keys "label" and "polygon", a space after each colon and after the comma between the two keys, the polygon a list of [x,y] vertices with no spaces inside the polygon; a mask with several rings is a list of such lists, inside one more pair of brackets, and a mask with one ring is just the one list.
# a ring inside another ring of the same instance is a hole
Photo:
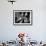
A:
{"label": "pale white wall behind the framed picture and pink flowers", "polygon": [[[32,26],[14,26],[13,10],[33,10]],[[46,1],[17,0],[13,5],[7,0],[0,0],[0,40],[15,40],[18,32],[31,34],[33,40],[46,40]]]}

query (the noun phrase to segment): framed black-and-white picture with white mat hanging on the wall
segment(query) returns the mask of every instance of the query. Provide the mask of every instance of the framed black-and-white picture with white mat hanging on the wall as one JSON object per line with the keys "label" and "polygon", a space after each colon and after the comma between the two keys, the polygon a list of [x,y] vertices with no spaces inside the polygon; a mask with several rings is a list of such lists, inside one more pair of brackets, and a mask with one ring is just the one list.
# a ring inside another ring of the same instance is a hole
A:
{"label": "framed black-and-white picture with white mat hanging on the wall", "polygon": [[32,10],[13,10],[14,25],[32,25]]}

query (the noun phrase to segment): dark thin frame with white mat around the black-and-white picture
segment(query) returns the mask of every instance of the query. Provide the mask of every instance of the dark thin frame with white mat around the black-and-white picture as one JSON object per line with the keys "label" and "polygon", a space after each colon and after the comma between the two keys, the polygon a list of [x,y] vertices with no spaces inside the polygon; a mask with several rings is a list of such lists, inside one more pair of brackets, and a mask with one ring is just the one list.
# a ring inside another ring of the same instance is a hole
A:
{"label": "dark thin frame with white mat around the black-and-white picture", "polygon": [[[30,23],[15,23],[15,12],[30,12]],[[32,25],[33,24],[33,11],[32,10],[13,10],[13,25]]]}

